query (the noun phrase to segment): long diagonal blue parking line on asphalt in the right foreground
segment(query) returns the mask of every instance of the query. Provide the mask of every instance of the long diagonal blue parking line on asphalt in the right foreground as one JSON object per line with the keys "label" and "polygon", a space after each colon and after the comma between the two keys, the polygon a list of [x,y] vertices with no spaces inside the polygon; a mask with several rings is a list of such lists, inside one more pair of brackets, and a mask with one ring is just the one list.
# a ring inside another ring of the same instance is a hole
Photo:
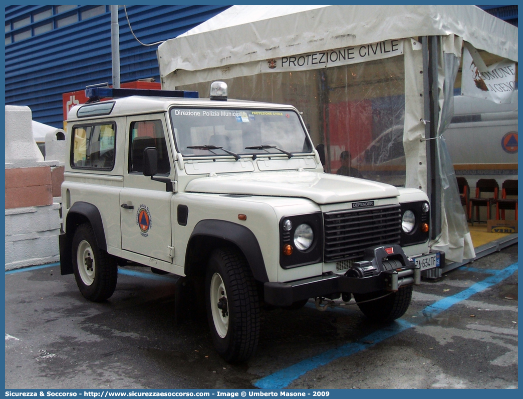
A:
{"label": "long diagonal blue parking line on asphalt in the right foreground", "polygon": [[[473,286],[458,292],[458,294],[451,297],[441,299],[422,310],[422,314],[428,317],[433,317],[444,310],[449,309],[454,304],[470,298],[472,295],[481,292],[492,285],[498,284],[507,277],[514,274],[518,269],[518,264],[514,263],[503,270],[495,271],[496,273],[493,276],[487,277],[479,283],[474,284]],[[350,343],[343,345],[338,348],[327,350],[321,355],[314,356],[310,359],[302,360],[295,365],[289,366],[285,369],[279,370],[273,374],[268,375],[267,377],[261,378],[258,381],[254,382],[254,386],[261,389],[282,389],[288,386],[292,381],[297,380],[303,374],[308,371],[312,371],[320,366],[324,366],[327,363],[332,362],[340,357],[346,357],[353,355],[367,349],[371,346],[376,345],[377,343],[383,341],[386,338],[390,338],[396,334],[399,334],[408,328],[414,327],[419,323],[422,323],[422,320],[419,320],[418,323],[412,324],[402,319],[398,319],[391,325],[378,330],[365,338],[361,338],[360,342]],[[369,342],[371,344],[362,344],[361,342]]]}

